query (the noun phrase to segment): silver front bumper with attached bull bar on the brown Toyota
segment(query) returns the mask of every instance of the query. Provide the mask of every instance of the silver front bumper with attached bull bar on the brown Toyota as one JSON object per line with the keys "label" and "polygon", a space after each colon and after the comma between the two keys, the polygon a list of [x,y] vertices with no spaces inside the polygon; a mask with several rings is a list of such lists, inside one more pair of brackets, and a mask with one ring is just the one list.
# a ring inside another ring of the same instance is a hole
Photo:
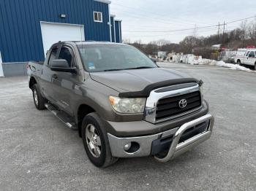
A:
{"label": "silver front bumper with attached bull bar on the brown Toyota", "polygon": [[[182,140],[184,132],[189,129],[194,128],[197,125],[206,122],[206,130],[202,133],[198,133],[195,136],[189,137],[187,140]],[[181,125],[179,128],[173,128],[171,130],[164,131],[162,133],[157,133],[151,136],[138,136],[138,137],[127,137],[118,138],[116,136],[108,133],[108,140],[110,143],[110,149],[113,157],[146,157],[152,155],[152,144],[157,139],[165,139],[171,137],[171,142],[169,149],[167,150],[167,155],[165,157],[159,157],[155,155],[155,158],[160,162],[167,162],[173,157],[181,155],[192,147],[197,146],[197,144],[202,143],[210,138],[212,129],[214,125],[214,117],[211,114],[206,114],[203,117],[199,117],[195,120]],[[130,143],[135,143],[135,150],[125,150],[125,145],[131,145]],[[138,147],[139,146],[139,147]],[[133,152],[134,151],[134,152]]]}

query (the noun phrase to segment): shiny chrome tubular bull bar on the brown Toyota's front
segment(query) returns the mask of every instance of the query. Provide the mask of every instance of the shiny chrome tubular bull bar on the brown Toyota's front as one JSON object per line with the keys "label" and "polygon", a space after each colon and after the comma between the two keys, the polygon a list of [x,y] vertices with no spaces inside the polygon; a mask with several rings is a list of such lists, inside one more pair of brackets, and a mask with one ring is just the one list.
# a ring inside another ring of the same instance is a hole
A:
{"label": "shiny chrome tubular bull bar on the brown Toyota's front", "polygon": [[[178,144],[178,141],[181,139],[182,134],[187,129],[206,121],[208,121],[208,129],[204,133],[200,133],[197,136],[193,136],[191,139],[188,139],[187,141]],[[173,136],[173,141],[170,145],[170,149],[167,152],[167,155],[165,157],[154,156],[154,158],[159,162],[166,163],[174,157],[181,155],[181,153],[186,152],[188,149],[195,147],[197,144],[200,144],[203,141],[206,141],[206,139],[209,139],[212,133],[213,126],[214,117],[211,114],[206,114],[203,117],[185,123],[181,126],[181,128],[176,131],[175,135]]]}

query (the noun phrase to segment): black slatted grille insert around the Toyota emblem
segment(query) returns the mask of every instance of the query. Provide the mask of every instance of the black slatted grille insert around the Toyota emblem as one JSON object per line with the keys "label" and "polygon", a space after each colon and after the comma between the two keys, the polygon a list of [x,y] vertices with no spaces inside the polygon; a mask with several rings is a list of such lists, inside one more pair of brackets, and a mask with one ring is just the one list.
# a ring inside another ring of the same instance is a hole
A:
{"label": "black slatted grille insert around the Toyota emblem", "polygon": [[[180,108],[178,105],[179,101],[182,99],[187,100],[187,106],[184,108]],[[199,91],[170,98],[162,98],[157,103],[156,120],[163,120],[197,109],[201,106],[201,103],[201,95]]]}

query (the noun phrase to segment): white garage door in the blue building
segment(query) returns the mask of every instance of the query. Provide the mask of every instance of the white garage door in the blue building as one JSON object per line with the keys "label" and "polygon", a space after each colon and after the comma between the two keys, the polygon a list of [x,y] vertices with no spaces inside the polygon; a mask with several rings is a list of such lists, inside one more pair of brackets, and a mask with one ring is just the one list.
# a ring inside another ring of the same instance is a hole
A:
{"label": "white garage door in the blue building", "polygon": [[84,41],[84,28],[80,25],[41,22],[44,52],[59,41]]}

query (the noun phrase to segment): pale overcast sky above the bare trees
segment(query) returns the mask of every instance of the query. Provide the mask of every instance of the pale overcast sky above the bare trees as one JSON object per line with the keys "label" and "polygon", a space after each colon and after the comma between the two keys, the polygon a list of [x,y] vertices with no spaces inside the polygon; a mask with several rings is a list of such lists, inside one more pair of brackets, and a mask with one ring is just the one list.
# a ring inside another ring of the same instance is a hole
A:
{"label": "pale overcast sky above the bare trees", "polygon": [[[185,36],[217,34],[218,23],[256,16],[256,1],[241,0],[112,0],[110,12],[122,20],[123,39],[148,43],[166,39],[178,43]],[[246,2],[246,3],[245,3]],[[255,20],[248,19],[247,22]],[[225,30],[240,26],[229,23]],[[213,26],[214,25],[214,26]],[[209,28],[200,28],[212,26]],[[187,31],[176,31],[192,28]],[[197,29],[195,29],[197,28]],[[135,32],[136,31],[136,32]],[[163,31],[163,32],[160,32]]]}

